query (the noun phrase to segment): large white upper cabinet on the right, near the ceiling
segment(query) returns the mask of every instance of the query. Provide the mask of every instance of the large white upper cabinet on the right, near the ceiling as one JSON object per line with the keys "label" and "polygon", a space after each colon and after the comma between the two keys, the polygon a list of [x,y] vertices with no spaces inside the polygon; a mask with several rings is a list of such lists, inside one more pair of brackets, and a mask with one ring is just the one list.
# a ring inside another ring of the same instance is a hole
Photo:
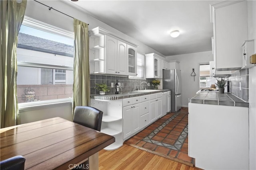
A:
{"label": "large white upper cabinet on the right, near the ceiling", "polygon": [[214,27],[214,62],[216,71],[242,68],[242,43],[247,35],[247,2],[217,1],[211,5]]}

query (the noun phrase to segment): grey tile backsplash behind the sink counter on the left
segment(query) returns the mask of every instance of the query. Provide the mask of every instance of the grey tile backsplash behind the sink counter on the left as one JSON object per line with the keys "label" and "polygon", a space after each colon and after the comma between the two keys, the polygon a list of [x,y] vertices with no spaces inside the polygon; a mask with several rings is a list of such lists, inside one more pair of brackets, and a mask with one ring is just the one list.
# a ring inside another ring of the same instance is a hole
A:
{"label": "grey tile backsplash behind the sink counter on the left", "polygon": [[[146,80],[137,80],[137,79],[129,79],[127,76],[110,76],[110,75],[104,75],[104,74],[90,74],[90,87],[91,87],[91,94],[99,94],[99,90],[95,89],[96,84],[105,83],[107,84],[109,88],[109,92],[106,92],[107,94],[115,93],[115,84],[116,80],[118,80],[118,83],[121,83],[123,87],[121,86],[122,90],[120,89],[119,92],[129,92],[132,90],[137,90],[139,88],[141,82],[147,82],[150,83],[150,86],[146,86],[146,83],[142,83],[141,87],[143,89],[154,89],[154,86],[152,86],[152,80],[155,80],[153,78],[147,78]],[[114,84],[114,87],[111,88],[111,83]]]}

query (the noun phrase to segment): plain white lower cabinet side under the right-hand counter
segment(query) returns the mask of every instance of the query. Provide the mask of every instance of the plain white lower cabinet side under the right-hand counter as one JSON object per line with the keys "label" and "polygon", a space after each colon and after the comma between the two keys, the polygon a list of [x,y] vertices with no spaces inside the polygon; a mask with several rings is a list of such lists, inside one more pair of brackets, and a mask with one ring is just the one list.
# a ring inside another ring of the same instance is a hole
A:
{"label": "plain white lower cabinet side under the right-hand counter", "polygon": [[188,104],[188,156],[211,170],[249,169],[248,107]]}

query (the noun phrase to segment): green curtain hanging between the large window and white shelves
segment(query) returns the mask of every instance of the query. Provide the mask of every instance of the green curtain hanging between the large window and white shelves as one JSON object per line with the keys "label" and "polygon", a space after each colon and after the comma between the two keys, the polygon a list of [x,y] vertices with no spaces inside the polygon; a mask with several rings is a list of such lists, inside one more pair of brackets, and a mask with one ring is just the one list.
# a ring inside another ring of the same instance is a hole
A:
{"label": "green curtain hanging between the large window and white shelves", "polygon": [[74,18],[73,110],[90,106],[90,69],[88,24]]}

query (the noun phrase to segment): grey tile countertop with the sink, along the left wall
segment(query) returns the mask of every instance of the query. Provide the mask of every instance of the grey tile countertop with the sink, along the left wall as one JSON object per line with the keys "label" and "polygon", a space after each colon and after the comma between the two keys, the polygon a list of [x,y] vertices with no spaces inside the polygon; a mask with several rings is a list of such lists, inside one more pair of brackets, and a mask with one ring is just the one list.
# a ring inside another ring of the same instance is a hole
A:
{"label": "grey tile countertop with the sink, along the left wall", "polygon": [[91,95],[92,99],[97,99],[97,100],[118,100],[118,99],[124,99],[124,98],[132,98],[132,97],[137,97],[137,96],[144,96],[147,94],[154,94],[154,93],[161,93],[161,92],[168,92],[170,91],[169,89],[159,89],[158,91],[154,92],[122,92],[119,94],[105,94],[105,95],[99,95],[99,94],[93,94]]}

